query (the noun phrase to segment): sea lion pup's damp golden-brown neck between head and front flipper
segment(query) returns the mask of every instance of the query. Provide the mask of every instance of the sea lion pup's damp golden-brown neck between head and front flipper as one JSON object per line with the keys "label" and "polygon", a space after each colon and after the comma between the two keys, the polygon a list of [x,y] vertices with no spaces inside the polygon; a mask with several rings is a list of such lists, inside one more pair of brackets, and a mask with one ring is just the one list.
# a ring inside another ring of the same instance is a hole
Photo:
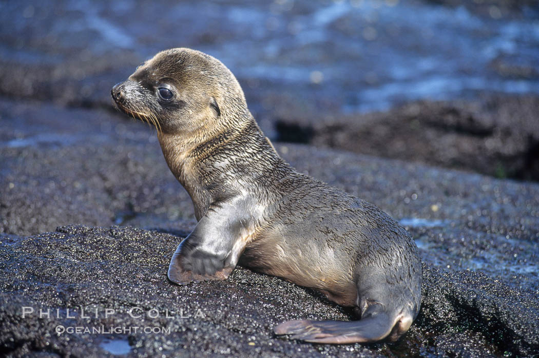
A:
{"label": "sea lion pup's damp golden-brown neck between head and front flipper", "polygon": [[[242,178],[263,177],[263,171],[274,171],[271,167],[282,163],[252,116],[208,133],[205,128],[204,137],[158,134],[165,160],[191,196],[197,219],[212,203],[245,192]],[[238,173],[238,164],[243,173]]]}

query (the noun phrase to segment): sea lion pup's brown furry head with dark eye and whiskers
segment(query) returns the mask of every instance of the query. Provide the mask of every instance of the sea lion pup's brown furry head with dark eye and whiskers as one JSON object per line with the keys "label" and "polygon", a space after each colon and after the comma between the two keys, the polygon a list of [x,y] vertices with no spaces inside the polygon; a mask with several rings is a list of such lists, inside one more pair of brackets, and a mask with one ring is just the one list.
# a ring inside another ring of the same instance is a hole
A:
{"label": "sea lion pup's brown furry head with dark eye and whiskers", "polygon": [[156,126],[185,134],[226,130],[247,111],[241,87],[219,60],[189,48],[160,52],[111,91],[116,107]]}

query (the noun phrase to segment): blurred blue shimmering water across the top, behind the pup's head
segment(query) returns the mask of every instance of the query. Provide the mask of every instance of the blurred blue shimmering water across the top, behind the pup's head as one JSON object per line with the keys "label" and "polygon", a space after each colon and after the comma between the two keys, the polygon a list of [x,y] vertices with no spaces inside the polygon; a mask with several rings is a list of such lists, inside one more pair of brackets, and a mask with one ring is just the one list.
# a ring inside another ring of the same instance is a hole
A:
{"label": "blurred blue shimmering water across the top, behind the pup's head", "polygon": [[132,51],[143,60],[193,47],[231,68],[248,96],[267,90],[368,112],[482,91],[539,93],[537,8],[507,14],[492,5],[483,13],[412,0],[10,2],[0,4],[0,56],[47,64]]}

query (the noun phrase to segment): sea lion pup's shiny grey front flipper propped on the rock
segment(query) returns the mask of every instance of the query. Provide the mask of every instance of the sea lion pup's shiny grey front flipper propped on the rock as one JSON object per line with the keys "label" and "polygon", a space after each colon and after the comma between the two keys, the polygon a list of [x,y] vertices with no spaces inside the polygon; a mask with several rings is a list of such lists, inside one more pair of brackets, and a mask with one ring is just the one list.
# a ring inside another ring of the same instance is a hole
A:
{"label": "sea lion pup's shiny grey front flipper propped on the rock", "polygon": [[236,197],[210,206],[172,255],[170,281],[186,285],[229,277],[252,234],[245,204]]}

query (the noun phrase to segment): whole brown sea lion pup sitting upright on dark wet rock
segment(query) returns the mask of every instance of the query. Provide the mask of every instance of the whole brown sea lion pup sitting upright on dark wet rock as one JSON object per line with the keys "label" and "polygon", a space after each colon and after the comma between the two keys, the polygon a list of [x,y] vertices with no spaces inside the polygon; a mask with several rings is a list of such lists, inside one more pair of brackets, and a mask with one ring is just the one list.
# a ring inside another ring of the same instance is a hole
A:
{"label": "whole brown sea lion pup sitting upright on dark wet rock", "polygon": [[357,321],[294,320],[277,334],[317,343],[397,340],[420,306],[421,264],[402,226],[376,206],[298,173],[274,151],[231,71],[175,48],[112,89],[153,123],[198,224],[168,270],[177,284],[226,280],[236,264],[356,307]]}

